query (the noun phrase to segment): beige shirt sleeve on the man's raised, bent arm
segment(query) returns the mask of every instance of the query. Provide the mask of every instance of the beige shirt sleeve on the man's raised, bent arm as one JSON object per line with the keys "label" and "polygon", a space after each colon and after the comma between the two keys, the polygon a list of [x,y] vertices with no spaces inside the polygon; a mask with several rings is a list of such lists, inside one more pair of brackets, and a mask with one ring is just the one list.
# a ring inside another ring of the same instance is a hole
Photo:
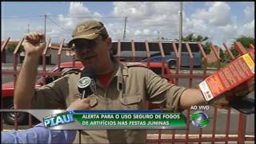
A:
{"label": "beige shirt sleeve on the man's raised, bent arm", "polygon": [[66,77],[58,78],[41,89],[35,90],[32,100],[32,109],[58,109],[66,108],[66,94],[68,94],[68,82]]}

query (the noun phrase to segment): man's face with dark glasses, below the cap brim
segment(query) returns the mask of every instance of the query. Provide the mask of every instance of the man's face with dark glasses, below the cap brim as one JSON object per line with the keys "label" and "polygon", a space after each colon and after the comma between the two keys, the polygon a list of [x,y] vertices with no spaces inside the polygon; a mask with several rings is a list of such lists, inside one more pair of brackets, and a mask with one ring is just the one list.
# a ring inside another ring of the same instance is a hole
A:
{"label": "man's face with dark glasses, below the cap brim", "polygon": [[74,42],[74,51],[82,64],[86,67],[94,67],[96,70],[99,66],[104,66],[106,58],[109,58],[111,39],[102,40],[99,36],[94,40],[78,39]]}

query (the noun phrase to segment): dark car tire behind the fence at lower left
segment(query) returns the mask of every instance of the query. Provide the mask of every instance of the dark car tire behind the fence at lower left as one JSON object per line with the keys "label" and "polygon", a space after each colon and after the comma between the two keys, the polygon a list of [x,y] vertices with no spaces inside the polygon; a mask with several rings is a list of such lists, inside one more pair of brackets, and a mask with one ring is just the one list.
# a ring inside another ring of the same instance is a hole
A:
{"label": "dark car tire behind the fence at lower left", "polygon": [[[14,109],[14,100],[13,98],[6,98],[3,100],[4,109]],[[26,113],[17,113],[18,114],[18,125],[27,125],[28,124],[28,114]],[[2,114],[3,120],[6,124],[14,125],[14,113],[4,112]]]}

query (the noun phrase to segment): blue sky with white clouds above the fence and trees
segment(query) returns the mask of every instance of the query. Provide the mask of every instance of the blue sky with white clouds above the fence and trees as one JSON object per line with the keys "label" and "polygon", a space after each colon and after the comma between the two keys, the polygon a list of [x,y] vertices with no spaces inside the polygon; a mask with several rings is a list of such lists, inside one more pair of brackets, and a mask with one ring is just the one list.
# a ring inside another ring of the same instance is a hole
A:
{"label": "blue sky with white clouds above the fence and trees", "polygon": [[[254,38],[254,2],[182,2],[182,35],[201,34],[222,47],[241,35]],[[88,19],[104,23],[113,40],[179,38],[180,2],[1,2],[2,41],[28,31],[44,32],[52,42],[71,39]]]}

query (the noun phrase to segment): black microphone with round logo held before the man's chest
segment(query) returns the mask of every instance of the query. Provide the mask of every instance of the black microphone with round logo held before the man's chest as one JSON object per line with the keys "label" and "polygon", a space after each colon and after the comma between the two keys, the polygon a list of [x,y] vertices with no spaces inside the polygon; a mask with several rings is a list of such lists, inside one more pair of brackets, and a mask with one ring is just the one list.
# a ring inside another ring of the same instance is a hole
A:
{"label": "black microphone with round logo held before the man's chest", "polygon": [[96,91],[96,71],[93,68],[84,68],[81,78],[78,81],[78,91],[82,94],[82,98],[87,98]]}

